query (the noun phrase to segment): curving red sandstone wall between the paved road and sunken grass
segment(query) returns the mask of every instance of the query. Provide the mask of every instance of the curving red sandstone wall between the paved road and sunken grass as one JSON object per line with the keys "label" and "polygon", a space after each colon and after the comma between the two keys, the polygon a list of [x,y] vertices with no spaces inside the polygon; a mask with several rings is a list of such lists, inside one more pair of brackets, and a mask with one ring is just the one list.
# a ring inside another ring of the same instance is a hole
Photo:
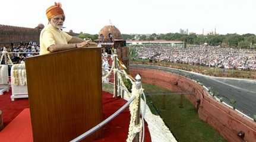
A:
{"label": "curving red sandstone wall between the paved road and sunken grass", "polygon": [[[256,122],[217,102],[198,83],[183,76],[155,69],[129,67],[129,72],[134,76],[140,73],[144,83],[162,86],[171,91],[193,92],[194,95],[188,95],[187,97],[195,106],[197,105],[197,99],[200,99],[198,115],[201,120],[206,121],[219,131],[227,141],[256,141]],[[244,131],[244,140],[237,136],[239,131]]]}

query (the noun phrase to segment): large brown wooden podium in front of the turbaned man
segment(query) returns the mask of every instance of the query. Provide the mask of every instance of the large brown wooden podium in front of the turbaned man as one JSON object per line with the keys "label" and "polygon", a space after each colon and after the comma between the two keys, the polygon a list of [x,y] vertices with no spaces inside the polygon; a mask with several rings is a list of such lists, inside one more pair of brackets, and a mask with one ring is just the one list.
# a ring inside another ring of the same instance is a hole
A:
{"label": "large brown wooden podium in front of the turbaned man", "polygon": [[100,48],[29,57],[26,73],[33,141],[70,141],[103,120]]}

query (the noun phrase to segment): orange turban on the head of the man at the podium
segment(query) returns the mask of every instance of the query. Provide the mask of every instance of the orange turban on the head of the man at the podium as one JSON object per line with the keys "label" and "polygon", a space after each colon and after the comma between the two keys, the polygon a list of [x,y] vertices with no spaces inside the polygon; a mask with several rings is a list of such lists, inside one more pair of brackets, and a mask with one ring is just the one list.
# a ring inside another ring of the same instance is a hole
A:
{"label": "orange turban on the head of the man at the podium", "polygon": [[56,15],[63,15],[63,18],[65,20],[64,11],[61,8],[61,3],[55,2],[55,5],[50,6],[48,9],[46,9],[46,16],[48,19],[51,19],[52,17],[55,17]]}

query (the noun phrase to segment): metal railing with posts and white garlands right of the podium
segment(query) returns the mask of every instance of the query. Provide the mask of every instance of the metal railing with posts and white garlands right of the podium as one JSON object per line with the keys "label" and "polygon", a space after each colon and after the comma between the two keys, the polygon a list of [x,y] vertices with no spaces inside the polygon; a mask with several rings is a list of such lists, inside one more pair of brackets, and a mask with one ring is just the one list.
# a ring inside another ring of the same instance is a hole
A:
{"label": "metal railing with posts and white garlands right of the podium", "polygon": [[[122,70],[122,67],[121,66],[124,66],[124,64],[120,64],[118,62],[118,58],[117,58],[117,54],[116,54],[116,50],[114,51],[114,54],[113,55],[108,55],[108,54],[102,54],[103,57],[108,57],[108,56],[111,56],[112,59],[113,59],[113,62],[112,62],[112,67],[109,68],[109,67],[102,67],[102,69],[104,70],[109,70],[108,73],[106,73],[107,77],[110,76],[110,72],[113,72],[113,78],[114,78],[114,82],[112,83],[113,86],[114,86],[114,90],[113,90],[113,97],[116,97],[116,96],[122,96],[121,95],[121,92],[126,91],[127,94],[129,93],[128,92],[128,89],[125,85],[122,85],[121,83],[121,80],[122,78],[119,78],[118,77],[118,74],[121,73],[122,75],[125,75],[125,77],[127,79],[129,79],[131,82],[132,82],[132,85],[135,85],[133,86],[135,89],[137,90],[140,90],[141,89],[141,76],[140,75],[137,75],[135,77],[135,79],[131,78],[131,76],[128,76],[127,73],[125,72],[125,70]],[[108,62],[108,60],[106,60],[105,62]],[[106,76],[103,76],[103,78],[106,78]],[[135,80],[135,82],[134,82]],[[119,91],[118,91],[119,89]],[[118,94],[119,93],[119,94]],[[131,93],[132,94],[132,93]],[[146,113],[146,97],[144,95],[144,93],[142,94],[144,97],[144,110],[143,110],[143,113],[141,114],[141,111],[140,111],[140,99],[141,99],[141,94],[139,94],[139,99],[138,99],[138,109],[137,109],[137,113],[136,113],[136,119],[135,119],[135,125],[139,125],[140,124],[140,115],[141,116],[141,123],[143,125],[143,128],[142,128],[142,137],[141,137],[141,140],[140,140],[140,133],[137,133],[134,137],[134,140],[133,141],[144,141],[144,115]],[[134,101],[136,97],[135,96],[130,96],[129,98],[129,101],[123,105],[121,108],[118,109],[118,111],[116,111],[114,114],[110,115],[110,117],[106,118],[106,120],[100,122],[100,124],[97,124],[95,127],[91,128],[89,131],[86,131],[85,133],[79,135],[78,137],[74,138],[73,140],[71,140],[72,142],[77,142],[77,141],[81,141],[83,140],[84,138],[88,137],[90,134],[93,134],[95,131],[99,130],[100,128],[102,128],[104,125],[106,125],[109,121],[113,120],[113,118],[115,118],[116,116],[118,116],[122,111],[125,110],[125,108],[127,108],[131,103],[132,101]]]}

